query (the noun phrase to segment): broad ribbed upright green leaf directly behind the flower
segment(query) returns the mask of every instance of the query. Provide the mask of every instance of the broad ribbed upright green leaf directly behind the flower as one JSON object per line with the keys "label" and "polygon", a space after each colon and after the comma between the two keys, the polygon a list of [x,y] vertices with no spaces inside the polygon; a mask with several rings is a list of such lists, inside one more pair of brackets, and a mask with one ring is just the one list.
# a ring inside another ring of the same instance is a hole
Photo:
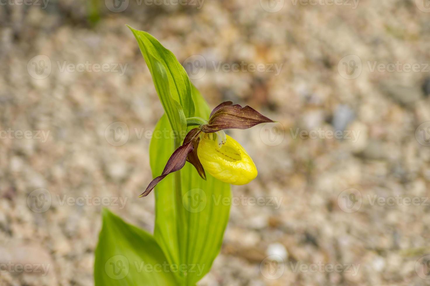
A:
{"label": "broad ribbed upright green leaf directly behind the flower", "polygon": [[[194,86],[192,91],[196,116],[207,119],[209,106]],[[154,134],[166,129],[171,130],[163,115]],[[174,148],[171,138],[152,138],[150,162],[154,177],[163,172]],[[221,249],[230,212],[230,185],[209,174],[207,180],[203,180],[188,162],[179,172],[167,175],[155,188],[154,237],[169,263],[187,265],[186,273],[176,273],[180,284],[195,285],[209,272]],[[180,193],[175,191],[175,181],[181,182]]]}

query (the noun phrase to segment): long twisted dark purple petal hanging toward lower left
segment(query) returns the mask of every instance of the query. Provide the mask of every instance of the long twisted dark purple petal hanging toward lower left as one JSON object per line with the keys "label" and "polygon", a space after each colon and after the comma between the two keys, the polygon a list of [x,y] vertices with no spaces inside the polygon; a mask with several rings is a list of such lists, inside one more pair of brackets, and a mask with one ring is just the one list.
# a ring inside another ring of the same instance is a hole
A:
{"label": "long twisted dark purple petal hanging toward lower left", "polygon": [[167,175],[184,167],[188,154],[194,150],[194,139],[198,138],[197,135],[199,135],[199,133],[200,130],[198,128],[194,128],[191,129],[187,135],[185,135],[184,144],[176,149],[172,156],[170,156],[166,166],[164,167],[163,173],[161,173],[161,175],[159,175],[157,178],[154,178],[154,180],[149,183],[146,190],[139,197],[147,196],[149,193],[151,193],[152,189],[154,189],[154,187]]}

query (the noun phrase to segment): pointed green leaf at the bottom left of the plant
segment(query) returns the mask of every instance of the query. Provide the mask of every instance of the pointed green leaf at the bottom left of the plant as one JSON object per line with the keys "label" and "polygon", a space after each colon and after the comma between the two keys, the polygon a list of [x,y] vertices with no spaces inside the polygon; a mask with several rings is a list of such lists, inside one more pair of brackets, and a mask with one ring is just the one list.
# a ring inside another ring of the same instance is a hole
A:
{"label": "pointed green leaf at the bottom left of the plant", "polygon": [[95,249],[95,286],[177,285],[172,267],[151,234],[103,209]]}

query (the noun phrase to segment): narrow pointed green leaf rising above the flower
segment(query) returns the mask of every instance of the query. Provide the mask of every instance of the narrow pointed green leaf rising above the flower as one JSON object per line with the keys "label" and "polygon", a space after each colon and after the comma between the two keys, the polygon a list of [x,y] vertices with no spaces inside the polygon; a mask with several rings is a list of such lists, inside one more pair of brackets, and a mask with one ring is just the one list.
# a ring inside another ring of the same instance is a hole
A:
{"label": "narrow pointed green leaf rising above the flower", "polygon": [[[179,111],[182,108],[184,117],[193,117],[195,108],[191,94],[191,83],[184,67],[178,62],[175,55],[163,47],[151,34],[128,27],[138,42],[170,123],[174,117],[172,112],[178,112],[175,108]],[[169,101],[176,101],[179,104],[174,106],[171,103],[169,104],[170,108],[167,108]],[[172,127],[175,129],[175,125]]]}

